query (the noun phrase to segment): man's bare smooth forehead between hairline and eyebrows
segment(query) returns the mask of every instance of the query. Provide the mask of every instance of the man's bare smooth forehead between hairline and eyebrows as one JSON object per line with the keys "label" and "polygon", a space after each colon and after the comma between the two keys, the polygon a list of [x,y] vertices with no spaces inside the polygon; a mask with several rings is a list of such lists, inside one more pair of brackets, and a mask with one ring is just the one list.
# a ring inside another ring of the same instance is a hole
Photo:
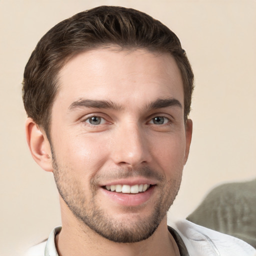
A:
{"label": "man's bare smooth forehead between hairline and eyebrows", "polygon": [[79,53],[59,71],[58,85],[54,104],[68,105],[84,97],[141,104],[153,97],[174,97],[183,106],[182,78],[174,58],[146,49],[110,47]]}

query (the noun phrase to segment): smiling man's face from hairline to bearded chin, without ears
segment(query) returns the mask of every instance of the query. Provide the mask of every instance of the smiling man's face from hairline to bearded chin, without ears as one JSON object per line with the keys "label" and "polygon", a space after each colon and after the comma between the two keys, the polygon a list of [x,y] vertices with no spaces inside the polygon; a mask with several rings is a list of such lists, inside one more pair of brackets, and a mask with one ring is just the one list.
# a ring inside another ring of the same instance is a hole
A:
{"label": "smiling man's face from hairline to bearded chin, without ears", "polygon": [[107,239],[146,239],[177,194],[190,142],[174,59],[95,49],[69,60],[58,79],[50,135],[62,199]]}

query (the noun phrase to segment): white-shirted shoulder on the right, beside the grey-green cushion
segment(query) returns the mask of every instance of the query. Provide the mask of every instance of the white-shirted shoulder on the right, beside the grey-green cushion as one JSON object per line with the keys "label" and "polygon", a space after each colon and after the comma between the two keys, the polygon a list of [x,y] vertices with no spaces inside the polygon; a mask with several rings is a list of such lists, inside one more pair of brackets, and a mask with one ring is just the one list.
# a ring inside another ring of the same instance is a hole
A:
{"label": "white-shirted shoulder on the right, beside the grey-green cushion", "polygon": [[188,220],[173,223],[190,256],[255,256],[256,250],[246,242]]}

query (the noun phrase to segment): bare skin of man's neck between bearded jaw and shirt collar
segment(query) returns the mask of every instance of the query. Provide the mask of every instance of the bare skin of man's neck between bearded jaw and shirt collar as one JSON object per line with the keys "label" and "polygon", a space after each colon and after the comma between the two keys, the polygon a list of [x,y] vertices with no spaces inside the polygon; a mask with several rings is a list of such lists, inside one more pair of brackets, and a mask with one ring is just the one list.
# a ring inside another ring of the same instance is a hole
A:
{"label": "bare skin of man's neck between bearded jaw and shirt collar", "polygon": [[148,239],[135,243],[117,243],[100,236],[77,220],[63,201],[60,205],[62,229],[55,237],[59,256],[110,256],[119,255],[120,251],[122,256],[180,255],[177,244],[167,229],[166,216]]}

